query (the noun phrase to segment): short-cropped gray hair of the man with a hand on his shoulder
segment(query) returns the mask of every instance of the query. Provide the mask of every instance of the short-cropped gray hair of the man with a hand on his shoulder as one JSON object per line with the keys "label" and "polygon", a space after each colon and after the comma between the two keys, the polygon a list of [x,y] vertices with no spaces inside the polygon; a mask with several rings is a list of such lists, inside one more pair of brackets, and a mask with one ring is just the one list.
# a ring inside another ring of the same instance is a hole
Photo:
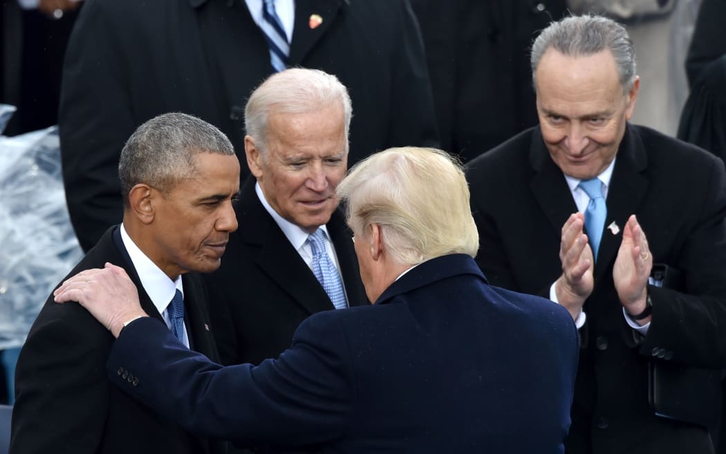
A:
{"label": "short-cropped gray hair of the man with a hand on his shoulder", "polygon": [[168,192],[193,177],[200,153],[234,155],[234,148],[215,126],[185,113],[165,113],[142,124],[126,141],[118,163],[124,203],[139,183]]}

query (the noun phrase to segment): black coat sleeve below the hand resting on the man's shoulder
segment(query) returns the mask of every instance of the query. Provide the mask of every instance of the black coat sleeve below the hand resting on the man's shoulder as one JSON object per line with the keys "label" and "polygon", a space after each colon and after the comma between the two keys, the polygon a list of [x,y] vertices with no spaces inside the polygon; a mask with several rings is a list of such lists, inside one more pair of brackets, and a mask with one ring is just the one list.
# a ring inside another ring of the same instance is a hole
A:
{"label": "black coat sleeve below the hand resting on the man's shoulder", "polygon": [[[49,321],[33,326],[17,362],[10,452],[97,453],[109,401],[103,365],[113,337],[76,303],[49,309]],[[70,317],[53,317],[62,312]]]}

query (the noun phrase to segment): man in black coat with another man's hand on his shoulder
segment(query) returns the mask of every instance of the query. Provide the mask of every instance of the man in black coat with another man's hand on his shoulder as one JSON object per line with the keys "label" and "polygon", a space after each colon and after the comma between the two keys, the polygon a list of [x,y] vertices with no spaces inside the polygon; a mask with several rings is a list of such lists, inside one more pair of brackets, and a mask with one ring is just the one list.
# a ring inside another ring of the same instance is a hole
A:
{"label": "man in black coat with another man's hand on his shoulder", "polygon": [[[240,166],[232,144],[198,118],[160,115],[126,142],[118,174],[123,223],[110,227],[71,273],[118,264],[131,276],[136,301],[174,331],[179,346],[217,358],[195,272],[219,267],[237,228],[232,198]],[[226,452],[223,442],[197,437],[112,386],[103,367],[112,341],[76,304],[46,301],[17,362],[10,453]]]}

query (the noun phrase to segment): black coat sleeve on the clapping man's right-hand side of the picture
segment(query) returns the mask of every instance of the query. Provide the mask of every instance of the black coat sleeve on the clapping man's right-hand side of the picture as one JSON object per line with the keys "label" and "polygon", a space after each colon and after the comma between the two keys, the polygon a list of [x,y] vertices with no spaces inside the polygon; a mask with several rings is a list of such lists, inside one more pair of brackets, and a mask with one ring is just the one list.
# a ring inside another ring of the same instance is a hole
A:
{"label": "black coat sleeve on the clapping man's right-hand side of the picture", "polygon": [[713,159],[698,216],[681,251],[674,251],[684,288],[650,288],[653,318],[641,354],[670,352],[669,360],[726,367],[726,173]]}

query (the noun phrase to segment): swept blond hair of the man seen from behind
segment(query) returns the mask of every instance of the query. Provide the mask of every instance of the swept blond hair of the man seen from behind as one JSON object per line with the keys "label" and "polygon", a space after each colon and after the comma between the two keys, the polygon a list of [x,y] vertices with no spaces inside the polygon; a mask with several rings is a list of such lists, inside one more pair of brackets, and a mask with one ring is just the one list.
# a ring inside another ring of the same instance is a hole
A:
{"label": "swept blond hair of the man seen from behind", "polygon": [[348,225],[378,224],[391,258],[406,265],[447,254],[476,256],[479,236],[460,163],[433,148],[390,148],[357,163],[338,185]]}

